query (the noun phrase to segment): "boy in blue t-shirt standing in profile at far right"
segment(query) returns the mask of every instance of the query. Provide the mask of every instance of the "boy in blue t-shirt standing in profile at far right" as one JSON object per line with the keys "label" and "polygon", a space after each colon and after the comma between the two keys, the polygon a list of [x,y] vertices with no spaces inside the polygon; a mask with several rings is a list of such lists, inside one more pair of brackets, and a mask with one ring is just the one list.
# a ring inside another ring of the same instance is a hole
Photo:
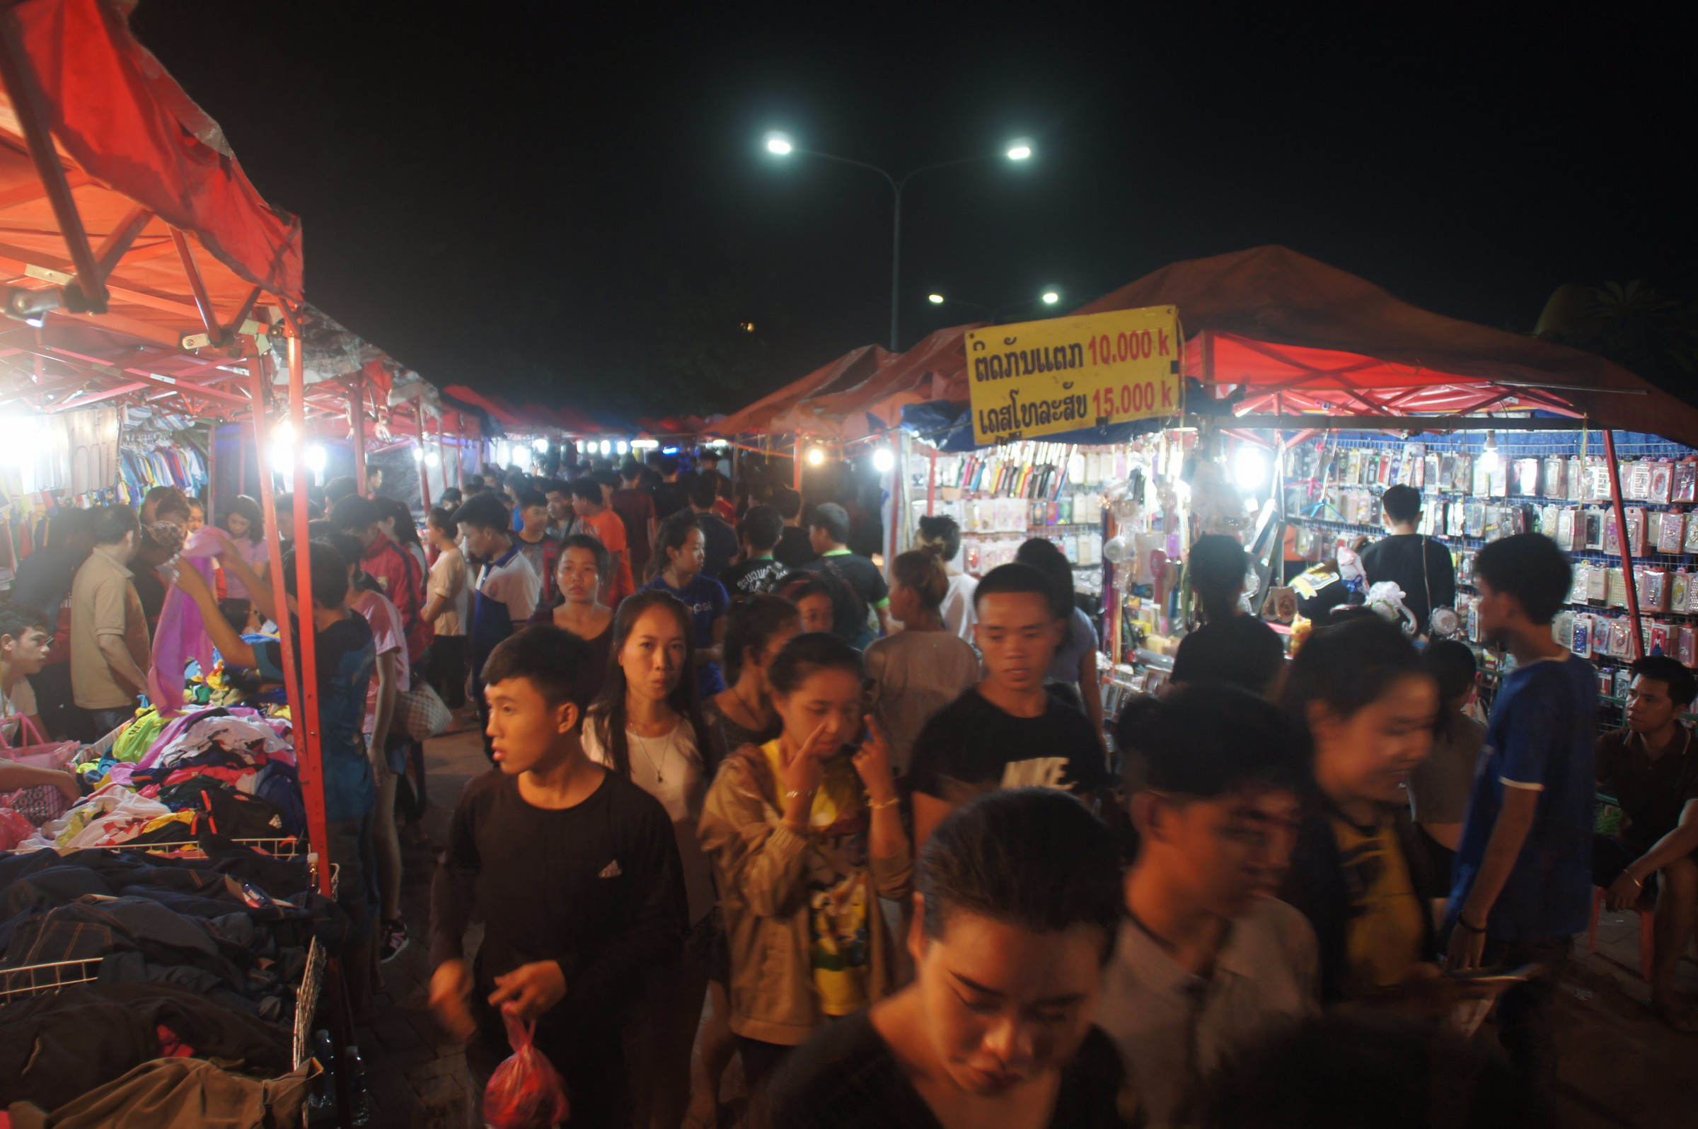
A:
{"label": "boy in blue t-shirt standing in profile at far right", "polygon": [[1538,964],[1498,1003],[1499,1041],[1540,1092],[1555,1081],[1550,1007],[1591,908],[1594,667],[1550,633],[1572,587],[1567,555],[1540,533],[1474,559],[1481,632],[1515,655],[1486,732],[1450,893],[1452,971]]}

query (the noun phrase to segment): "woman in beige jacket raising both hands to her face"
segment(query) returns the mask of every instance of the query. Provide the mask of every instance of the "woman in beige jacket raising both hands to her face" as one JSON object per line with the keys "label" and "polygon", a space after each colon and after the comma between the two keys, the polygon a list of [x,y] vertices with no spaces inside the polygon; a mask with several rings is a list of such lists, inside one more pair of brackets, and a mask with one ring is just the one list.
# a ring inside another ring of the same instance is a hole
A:
{"label": "woman in beige jacket raising both hands to her face", "polygon": [[[907,898],[914,868],[890,740],[863,716],[861,654],[832,635],[798,635],[767,679],[784,732],[732,754],[701,815],[751,1090],[827,1019],[890,995],[878,900]],[[869,735],[854,749],[863,725]]]}

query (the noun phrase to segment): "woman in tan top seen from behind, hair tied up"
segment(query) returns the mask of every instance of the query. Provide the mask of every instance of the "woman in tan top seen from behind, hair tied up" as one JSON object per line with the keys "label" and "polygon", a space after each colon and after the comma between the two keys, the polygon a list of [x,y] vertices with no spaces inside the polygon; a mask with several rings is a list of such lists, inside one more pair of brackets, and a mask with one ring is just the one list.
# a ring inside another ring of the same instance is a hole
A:
{"label": "woman in tan top seen from behind, hair tied up", "polygon": [[890,618],[902,630],[866,649],[873,716],[890,733],[898,774],[908,771],[914,740],[932,715],[978,682],[978,652],[944,626],[939,608],[947,591],[934,547],[898,553],[890,569]]}

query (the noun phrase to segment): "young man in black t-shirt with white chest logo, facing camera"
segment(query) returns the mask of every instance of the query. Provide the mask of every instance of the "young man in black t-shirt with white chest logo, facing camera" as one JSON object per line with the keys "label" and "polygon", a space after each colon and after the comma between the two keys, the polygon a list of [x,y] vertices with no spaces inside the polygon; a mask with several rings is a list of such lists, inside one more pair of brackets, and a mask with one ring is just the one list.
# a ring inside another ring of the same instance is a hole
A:
{"label": "young man in black t-shirt with white chest logo, facing camera", "polygon": [[914,742],[915,852],[949,812],[980,793],[1037,786],[1094,800],[1110,783],[1090,720],[1044,689],[1066,632],[1048,577],[1031,565],[1000,565],[978,582],[973,604],[985,677]]}

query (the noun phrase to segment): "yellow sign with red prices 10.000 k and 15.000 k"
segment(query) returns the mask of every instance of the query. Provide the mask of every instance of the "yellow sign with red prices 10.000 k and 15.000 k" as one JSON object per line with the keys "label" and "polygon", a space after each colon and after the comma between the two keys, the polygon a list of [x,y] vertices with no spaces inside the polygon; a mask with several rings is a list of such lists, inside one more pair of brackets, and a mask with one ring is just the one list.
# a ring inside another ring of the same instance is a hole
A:
{"label": "yellow sign with red prices 10.000 k and 15.000 k", "polygon": [[1178,333],[1173,306],[970,329],[973,441],[988,447],[1177,413]]}

